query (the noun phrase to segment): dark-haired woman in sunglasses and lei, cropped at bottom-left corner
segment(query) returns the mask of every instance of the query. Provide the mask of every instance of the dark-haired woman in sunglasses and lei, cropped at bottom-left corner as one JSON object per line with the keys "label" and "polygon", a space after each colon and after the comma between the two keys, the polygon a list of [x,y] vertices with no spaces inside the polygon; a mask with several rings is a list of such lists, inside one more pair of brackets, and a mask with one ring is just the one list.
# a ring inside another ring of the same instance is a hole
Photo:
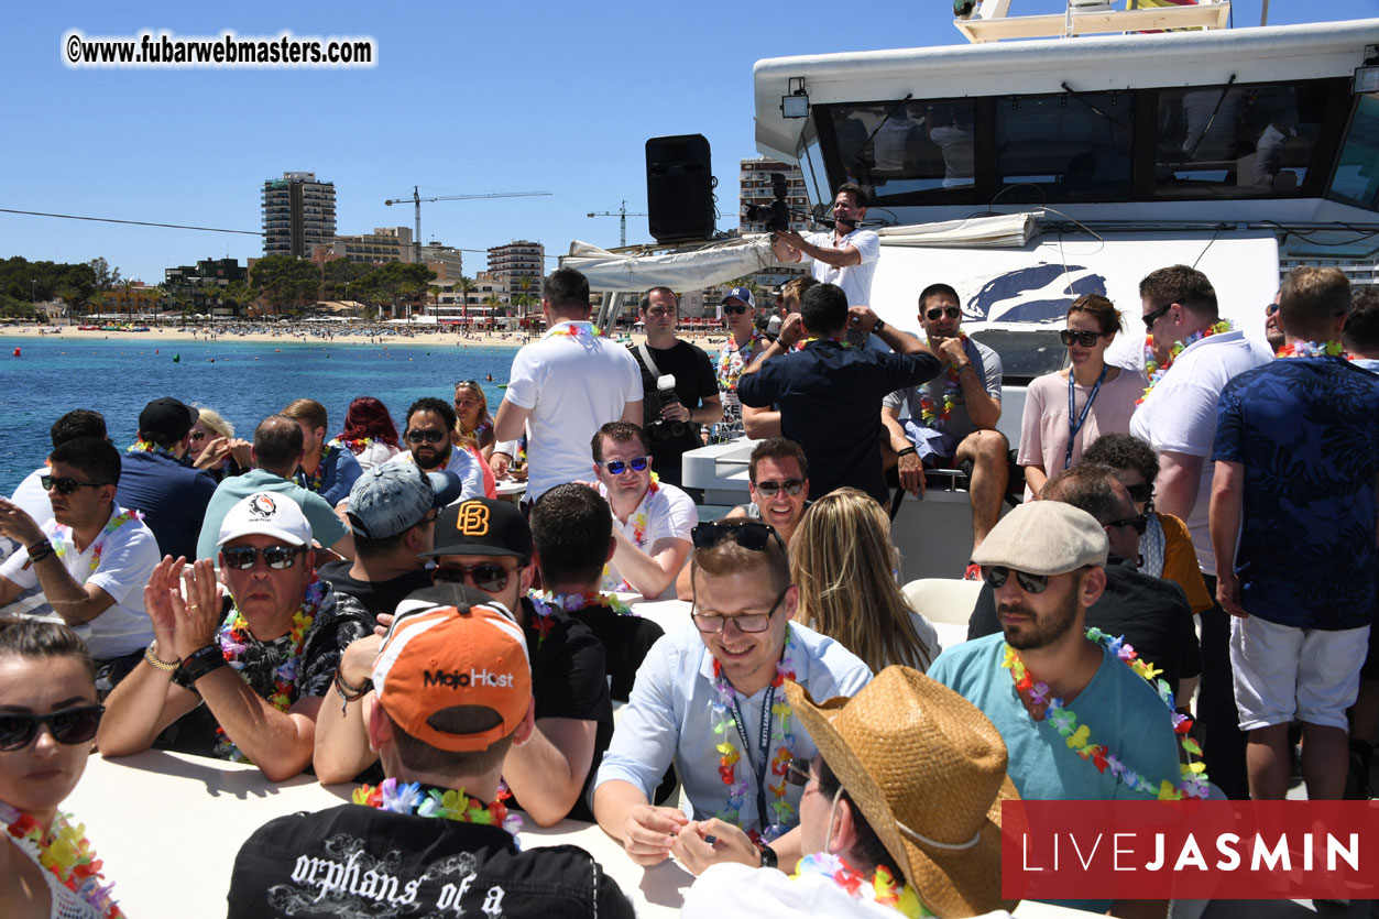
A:
{"label": "dark-haired woman in sunglasses and lei, cropped at bottom-left corner", "polygon": [[81,827],[58,804],[91,755],[103,706],[76,632],[0,621],[0,915],[120,916]]}

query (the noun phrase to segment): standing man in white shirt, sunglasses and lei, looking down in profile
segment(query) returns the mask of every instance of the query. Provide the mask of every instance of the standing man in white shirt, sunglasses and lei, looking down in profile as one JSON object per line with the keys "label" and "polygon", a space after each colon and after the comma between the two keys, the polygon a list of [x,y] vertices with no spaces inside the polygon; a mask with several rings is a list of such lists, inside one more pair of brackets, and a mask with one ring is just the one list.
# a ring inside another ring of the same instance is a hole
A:
{"label": "standing man in white shirt, sunglasses and lei, looking down in profile", "polygon": [[[1154,509],[1187,523],[1197,566],[1215,597],[1216,559],[1207,524],[1214,466],[1207,458],[1216,439],[1216,400],[1231,377],[1269,363],[1273,355],[1220,322],[1215,288],[1193,268],[1150,272],[1139,283],[1139,298],[1153,356],[1146,364],[1150,388],[1129,432],[1158,454]],[[1202,759],[1227,798],[1245,799],[1245,735],[1238,729],[1229,642],[1230,615],[1215,604],[1201,614],[1197,712],[1205,730]]]}

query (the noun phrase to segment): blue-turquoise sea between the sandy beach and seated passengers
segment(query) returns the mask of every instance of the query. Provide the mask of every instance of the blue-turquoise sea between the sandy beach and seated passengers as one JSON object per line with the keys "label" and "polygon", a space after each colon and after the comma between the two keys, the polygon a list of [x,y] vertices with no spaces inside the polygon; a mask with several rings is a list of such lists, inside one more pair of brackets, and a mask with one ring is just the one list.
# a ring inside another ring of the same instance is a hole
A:
{"label": "blue-turquoise sea between the sandy beach and seated passengers", "polygon": [[[339,433],[356,396],[381,399],[401,426],[422,396],[447,402],[458,379],[477,379],[498,410],[514,348],[479,345],[250,344],[61,341],[0,335],[0,494],[8,495],[51,450],[48,428],[73,408],[105,415],[121,450],[134,440],[139,411],[175,396],[215,408],[237,436],[294,399],[316,399]],[[21,357],[11,356],[15,348]],[[181,363],[172,363],[174,355]],[[484,378],[492,374],[492,382]]]}

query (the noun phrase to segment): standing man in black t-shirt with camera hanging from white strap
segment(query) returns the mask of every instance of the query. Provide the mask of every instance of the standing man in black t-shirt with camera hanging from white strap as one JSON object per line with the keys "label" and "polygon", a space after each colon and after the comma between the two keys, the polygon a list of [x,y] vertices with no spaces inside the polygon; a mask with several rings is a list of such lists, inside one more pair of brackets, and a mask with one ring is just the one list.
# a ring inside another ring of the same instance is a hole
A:
{"label": "standing man in black t-shirt with camera hanging from white strap", "polygon": [[[632,356],[641,367],[641,389],[645,393],[641,428],[651,447],[651,468],[662,482],[673,486],[678,486],[681,479],[680,457],[703,446],[699,428],[723,418],[713,363],[702,348],[676,338],[678,319],[680,301],[674,291],[652,287],[641,298],[647,344],[632,348]],[[676,378],[674,402],[659,396],[656,381],[661,377]]]}

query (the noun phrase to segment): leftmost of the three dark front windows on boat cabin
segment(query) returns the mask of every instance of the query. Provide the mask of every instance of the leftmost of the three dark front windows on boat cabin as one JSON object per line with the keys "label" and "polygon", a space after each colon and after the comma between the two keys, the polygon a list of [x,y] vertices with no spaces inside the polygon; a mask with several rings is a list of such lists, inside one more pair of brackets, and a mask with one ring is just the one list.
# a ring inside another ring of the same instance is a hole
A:
{"label": "leftmost of the three dark front windows on boat cabin", "polygon": [[[967,99],[909,99],[830,106],[838,166],[872,188],[872,204],[972,185],[972,115]],[[889,200],[888,200],[889,199]]]}

